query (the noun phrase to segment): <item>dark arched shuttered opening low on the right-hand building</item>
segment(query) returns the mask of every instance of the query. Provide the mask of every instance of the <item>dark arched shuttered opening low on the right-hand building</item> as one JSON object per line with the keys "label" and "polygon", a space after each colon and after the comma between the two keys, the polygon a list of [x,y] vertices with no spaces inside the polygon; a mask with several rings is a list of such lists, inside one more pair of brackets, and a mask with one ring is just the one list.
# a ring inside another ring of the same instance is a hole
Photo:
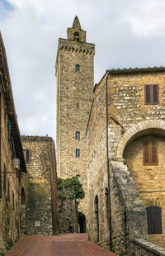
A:
{"label": "dark arched shuttered opening low on the right-hand building", "polygon": [[159,206],[149,206],[147,211],[148,234],[162,234],[162,209]]}

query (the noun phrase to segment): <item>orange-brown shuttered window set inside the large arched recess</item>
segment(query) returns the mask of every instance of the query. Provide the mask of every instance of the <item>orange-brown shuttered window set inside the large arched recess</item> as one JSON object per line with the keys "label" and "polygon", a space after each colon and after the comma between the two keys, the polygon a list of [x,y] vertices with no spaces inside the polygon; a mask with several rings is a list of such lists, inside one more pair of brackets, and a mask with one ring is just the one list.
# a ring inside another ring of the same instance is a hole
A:
{"label": "orange-brown shuttered window set inside the large arched recess", "polygon": [[158,143],[153,138],[144,140],[143,159],[144,165],[158,165]]}

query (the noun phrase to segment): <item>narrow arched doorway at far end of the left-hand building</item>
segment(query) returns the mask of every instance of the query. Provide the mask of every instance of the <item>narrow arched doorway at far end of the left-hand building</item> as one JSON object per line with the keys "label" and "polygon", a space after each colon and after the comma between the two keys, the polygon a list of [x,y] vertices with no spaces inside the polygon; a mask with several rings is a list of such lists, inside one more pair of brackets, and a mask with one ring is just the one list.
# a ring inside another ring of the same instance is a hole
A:
{"label": "narrow arched doorway at far end of the left-hand building", "polygon": [[21,212],[20,212],[21,234],[26,232],[26,193],[21,187]]}

